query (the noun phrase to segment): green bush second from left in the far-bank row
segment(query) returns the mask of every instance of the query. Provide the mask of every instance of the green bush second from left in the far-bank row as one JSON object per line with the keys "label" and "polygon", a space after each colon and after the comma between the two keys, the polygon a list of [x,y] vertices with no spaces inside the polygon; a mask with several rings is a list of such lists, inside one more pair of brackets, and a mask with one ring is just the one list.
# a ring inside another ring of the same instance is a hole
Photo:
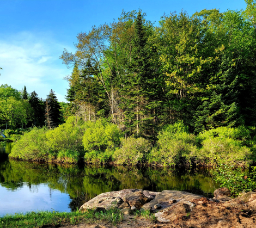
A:
{"label": "green bush second from left in the far-bank row", "polygon": [[[62,161],[68,161],[68,157],[65,159],[63,156],[65,153],[71,156],[71,151],[73,151],[72,153],[74,153],[75,157],[77,154],[80,154],[79,157],[83,157],[83,132],[83,121],[77,121],[75,116],[70,116],[65,124],[47,131],[46,143],[51,150],[51,158],[54,159],[58,157],[58,159],[62,158]],[[60,155],[58,155],[58,153],[60,153]],[[75,157],[74,159],[76,160],[77,158]]]}

